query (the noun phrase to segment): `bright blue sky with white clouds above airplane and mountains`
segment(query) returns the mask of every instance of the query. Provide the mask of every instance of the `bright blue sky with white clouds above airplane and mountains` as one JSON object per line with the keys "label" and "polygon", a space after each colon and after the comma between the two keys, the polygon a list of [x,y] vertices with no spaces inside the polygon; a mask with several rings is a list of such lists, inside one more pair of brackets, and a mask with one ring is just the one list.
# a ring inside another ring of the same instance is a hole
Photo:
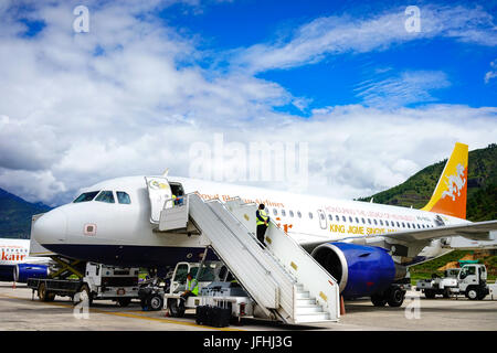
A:
{"label": "bright blue sky with white clouds above airplane and mountains", "polygon": [[[447,158],[456,141],[497,142],[496,10],[3,0],[0,188],[57,205],[109,178],[193,176],[194,147],[212,161],[222,139],[220,181],[371,195]],[[233,178],[263,142],[305,151],[305,182]]]}

